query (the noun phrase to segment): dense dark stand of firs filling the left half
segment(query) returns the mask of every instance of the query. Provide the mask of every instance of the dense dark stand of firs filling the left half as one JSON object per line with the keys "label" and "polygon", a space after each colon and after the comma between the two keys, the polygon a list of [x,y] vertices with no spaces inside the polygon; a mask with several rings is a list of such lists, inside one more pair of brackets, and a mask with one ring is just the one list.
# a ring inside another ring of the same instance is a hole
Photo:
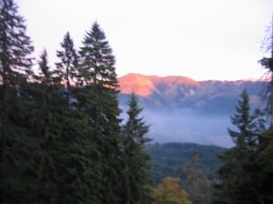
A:
{"label": "dense dark stand of firs filling the left half", "polygon": [[13,0],[0,1],[1,203],[146,203],[148,126],[136,96],[122,125],[115,56],[95,22],[66,33],[49,67]]}

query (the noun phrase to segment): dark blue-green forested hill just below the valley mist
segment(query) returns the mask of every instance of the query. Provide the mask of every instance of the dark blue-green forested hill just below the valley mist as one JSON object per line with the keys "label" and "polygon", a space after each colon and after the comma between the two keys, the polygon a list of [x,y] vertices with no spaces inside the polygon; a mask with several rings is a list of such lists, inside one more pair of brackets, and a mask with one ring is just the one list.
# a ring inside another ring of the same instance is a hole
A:
{"label": "dark blue-green forested hill just below the valley mist", "polygon": [[179,177],[186,180],[185,167],[189,165],[192,151],[198,153],[202,171],[210,182],[217,179],[217,168],[220,165],[218,154],[226,148],[203,146],[191,143],[148,144],[147,151],[151,157],[151,177],[157,184],[166,177]]}

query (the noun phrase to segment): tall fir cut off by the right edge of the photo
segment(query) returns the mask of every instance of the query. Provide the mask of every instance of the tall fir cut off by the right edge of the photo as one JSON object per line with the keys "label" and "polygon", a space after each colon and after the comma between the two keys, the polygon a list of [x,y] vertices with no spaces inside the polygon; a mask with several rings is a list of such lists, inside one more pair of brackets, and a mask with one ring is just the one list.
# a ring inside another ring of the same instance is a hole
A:
{"label": "tall fir cut off by the right edge of the photo", "polygon": [[264,43],[268,48],[267,51],[270,51],[270,56],[259,60],[260,64],[268,69],[269,82],[265,100],[268,105],[267,112],[270,122],[268,130],[261,134],[256,158],[258,166],[256,195],[260,203],[273,203],[273,15],[268,35]]}

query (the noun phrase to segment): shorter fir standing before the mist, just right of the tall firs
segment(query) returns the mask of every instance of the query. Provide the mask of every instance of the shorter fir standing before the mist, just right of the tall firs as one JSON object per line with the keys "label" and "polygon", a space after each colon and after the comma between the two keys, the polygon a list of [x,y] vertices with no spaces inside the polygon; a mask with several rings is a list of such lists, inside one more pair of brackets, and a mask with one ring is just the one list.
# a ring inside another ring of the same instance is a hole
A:
{"label": "shorter fir standing before the mist, just right of the tall firs", "polygon": [[149,196],[149,155],[145,145],[149,126],[140,116],[143,108],[139,107],[137,97],[132,94],[128,101],[127,121],[123,126],[123,182],[124,201],[126,204],[147,203]]}

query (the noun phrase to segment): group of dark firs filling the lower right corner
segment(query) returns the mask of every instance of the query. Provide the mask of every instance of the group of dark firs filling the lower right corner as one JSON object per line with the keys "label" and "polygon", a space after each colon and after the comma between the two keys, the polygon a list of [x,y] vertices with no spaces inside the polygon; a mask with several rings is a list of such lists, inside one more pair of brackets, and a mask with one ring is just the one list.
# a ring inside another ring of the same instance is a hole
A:
{"label": "group of dark firs filling the lower right corner", "polygon": [[259,109],[249,107],[248,92],[238,100],[228,128],[235,146],[219,158],[219,182],[214,203],[272,203],[273,132]]}

